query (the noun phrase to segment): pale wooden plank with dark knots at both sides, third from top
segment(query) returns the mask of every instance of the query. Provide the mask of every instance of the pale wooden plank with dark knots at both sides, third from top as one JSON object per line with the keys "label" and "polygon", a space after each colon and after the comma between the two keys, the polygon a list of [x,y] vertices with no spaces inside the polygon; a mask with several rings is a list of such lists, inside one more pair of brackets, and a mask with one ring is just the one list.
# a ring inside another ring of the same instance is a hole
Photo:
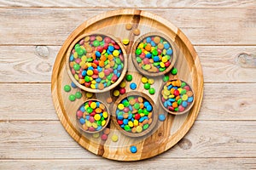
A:
{"label": "pale wooden plank with dark knots at both sides, third from top", "polygon": [[[1,82],[50,82],[60,48],[0,46]],[[205,82],[256,82],[256,46],[196,46],[195,50],[201,59]],[[238,58],[243,52],[252,56]]]}

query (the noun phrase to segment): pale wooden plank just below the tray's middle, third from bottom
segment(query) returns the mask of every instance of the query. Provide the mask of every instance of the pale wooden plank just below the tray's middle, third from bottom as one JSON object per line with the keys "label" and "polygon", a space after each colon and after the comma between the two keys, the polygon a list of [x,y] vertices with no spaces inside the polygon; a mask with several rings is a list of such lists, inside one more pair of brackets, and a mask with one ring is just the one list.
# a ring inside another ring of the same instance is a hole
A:
{"label": "pale wooden plank just below the tray's middle, third from bottom", "polygon": [[[0,121],[58,120],[49,83],[2,83],[0,88],[6,88],[0,92]],[[204,88],[198,120],[256,120],[255,83],[205,83]]]}

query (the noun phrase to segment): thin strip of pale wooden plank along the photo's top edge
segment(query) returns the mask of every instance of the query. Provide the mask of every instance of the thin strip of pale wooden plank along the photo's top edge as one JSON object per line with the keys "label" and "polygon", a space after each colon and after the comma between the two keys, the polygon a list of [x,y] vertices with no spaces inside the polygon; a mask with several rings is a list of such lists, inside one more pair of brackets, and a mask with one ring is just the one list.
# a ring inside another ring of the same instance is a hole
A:
{"label": "thin strip of pale wooden plank along the photo's top edge", "polygon": [[129,0],[110,0],[108,3],[102,0],[96,0],[93,3],[90,0],[77,2],[74,0],[57,0],[57,1],[0,1],[0,7],[65,7],[65,8],[247,8],[255,6],[253,0],[241,1],[203,1],[203,0],[188,0],[188,1],[129,1]]}

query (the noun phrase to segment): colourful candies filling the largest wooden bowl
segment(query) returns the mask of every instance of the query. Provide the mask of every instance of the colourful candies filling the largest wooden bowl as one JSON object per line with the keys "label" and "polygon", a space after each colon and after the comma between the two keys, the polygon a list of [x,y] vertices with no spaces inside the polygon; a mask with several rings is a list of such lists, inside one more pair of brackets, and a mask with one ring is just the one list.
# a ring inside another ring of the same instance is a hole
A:
{"label": "colourful candies filling the largest wooden bowl", "polygon": [[124,68],[123,52],[112,38],[91,35],[77,43],[69,57],[73,77],[87,88],[107,88]]}

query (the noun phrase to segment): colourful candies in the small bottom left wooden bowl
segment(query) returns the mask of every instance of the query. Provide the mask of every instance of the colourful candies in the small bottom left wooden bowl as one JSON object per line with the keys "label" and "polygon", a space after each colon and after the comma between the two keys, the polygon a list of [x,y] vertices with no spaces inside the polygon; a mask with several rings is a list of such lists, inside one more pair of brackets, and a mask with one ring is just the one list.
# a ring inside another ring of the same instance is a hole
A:
{"label": "colourful candies in the small bottom left wooden bowl", "polygon": [[89,100],[80,106],[77,118],[84,131],[96,132],[107,126],[108,111],[101,102]]}

